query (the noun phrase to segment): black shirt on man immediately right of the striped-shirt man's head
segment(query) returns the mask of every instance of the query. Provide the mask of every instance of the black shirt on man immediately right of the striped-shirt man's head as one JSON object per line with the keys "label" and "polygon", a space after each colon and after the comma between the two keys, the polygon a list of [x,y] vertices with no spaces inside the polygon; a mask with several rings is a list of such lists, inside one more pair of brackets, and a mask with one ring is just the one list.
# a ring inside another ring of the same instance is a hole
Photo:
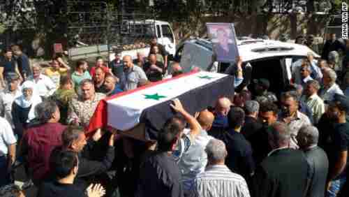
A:
{"label": "black shirt on man immediately right of the striped-shirt man's head", "polygon": [[242,133],[234,130],[225,131],[223,135],[218,136],[218,139],[222,140],[227,147],[228,156],[225,159],[225,165],[247,180],[255,170],[251,144]]}

